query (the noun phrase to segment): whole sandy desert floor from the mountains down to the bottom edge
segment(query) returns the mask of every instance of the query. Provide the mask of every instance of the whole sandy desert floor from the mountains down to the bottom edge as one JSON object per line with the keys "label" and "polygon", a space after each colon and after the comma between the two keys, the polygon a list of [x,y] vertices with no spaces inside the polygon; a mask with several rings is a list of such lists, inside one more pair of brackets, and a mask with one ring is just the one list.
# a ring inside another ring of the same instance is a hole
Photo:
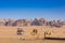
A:
{"label": "whole sandy desert floor from the mountains down to the bottom edge", "polygon": [[[18,27],[2,27],[0,26],[0,43],[65,43],[65,40],[34,40],[41,39],[44,37],[44,31],[50,30],[53,32],[51,35],[47,37],[64,37],[65,38],[65,27],[63,28],[52,28],[52,27],[21,27],[25,30],[25,33],[21,38],[31,39],[31,40],[20,40],[16,34]],[[38,34],[31,35],[32,29],[38,29]],[[64,31],[64,32],[63,32]],[[62,33],[61,33],[62,32]]]}

